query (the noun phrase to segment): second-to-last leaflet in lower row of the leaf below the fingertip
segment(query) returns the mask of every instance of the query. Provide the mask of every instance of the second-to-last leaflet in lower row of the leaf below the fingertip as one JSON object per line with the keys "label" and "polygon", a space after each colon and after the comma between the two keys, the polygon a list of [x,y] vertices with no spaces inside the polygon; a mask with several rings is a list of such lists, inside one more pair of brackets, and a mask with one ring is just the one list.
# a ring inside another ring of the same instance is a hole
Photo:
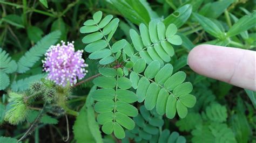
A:
{"label": "second-to-last leaflet in lower row of the leaf below the fingertip", "polygon": [[167,118],[172,119],[176,115],[176,104],[177,104],[177,99],[173,95],[170,95],[167,100],[166,111],[165,111]]}

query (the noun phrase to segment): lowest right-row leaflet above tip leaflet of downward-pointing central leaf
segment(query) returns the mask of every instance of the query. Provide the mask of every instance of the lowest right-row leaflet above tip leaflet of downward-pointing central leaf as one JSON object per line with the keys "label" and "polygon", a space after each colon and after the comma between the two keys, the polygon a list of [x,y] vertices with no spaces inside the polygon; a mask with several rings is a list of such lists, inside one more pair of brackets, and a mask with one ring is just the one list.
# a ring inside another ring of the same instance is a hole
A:
{"label": "lowest right-row leaflet above tip leaflet of downward-pointing central leaf", "polygon": [[135,123],[128,116],[126,116],[126,115],[124,115],[123,113],[120,113],[120,112],[114,113],[114,116],[115,116],[114,119],[116,119],[117,123],[119,123],[123,127],[127,128],[128,130],[132,130],[134,128]]}

